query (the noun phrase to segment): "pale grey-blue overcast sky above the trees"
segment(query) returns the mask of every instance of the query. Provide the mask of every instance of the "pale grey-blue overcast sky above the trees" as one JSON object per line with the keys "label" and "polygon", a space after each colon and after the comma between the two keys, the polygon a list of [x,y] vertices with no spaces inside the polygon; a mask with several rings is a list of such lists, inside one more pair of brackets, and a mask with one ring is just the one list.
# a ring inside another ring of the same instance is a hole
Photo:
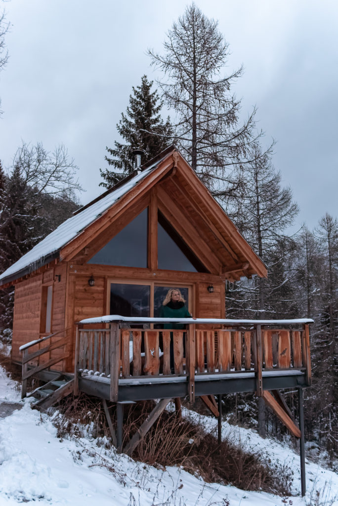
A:
{"label": "pale grey-blue overcast sky above the trees", "polygon": [[[154,78],[147,48],[162,49],[183,14],[178,0],[11,0],[10,59],[0,74],[0,159],[21,140],[64,143],[79,166],[86,203],[102,189],[105,147],[141,76]],[[257,106],[274,138],[274,164],[301,208],[296,226],[337,215],[338,3],[335,0],[197,0],[230,44],[228,71],[242,113]]]}

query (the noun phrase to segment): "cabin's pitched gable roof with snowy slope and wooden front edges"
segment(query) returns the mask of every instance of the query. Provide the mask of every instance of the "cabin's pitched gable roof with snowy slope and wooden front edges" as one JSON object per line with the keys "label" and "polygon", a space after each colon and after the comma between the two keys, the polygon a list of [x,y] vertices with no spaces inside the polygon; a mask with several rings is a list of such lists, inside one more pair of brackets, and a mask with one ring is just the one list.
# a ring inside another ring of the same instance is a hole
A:
{"label": "cabin's pitched gable roof with snowy slope and wooden front edges", "polygon": [[[169,163],[164,163],[166,159],[168,159]],[[62,223],[56,230],[51,232],[45,239],[36,244],[21,259],[2,273],[0,275],[0,286],[30,274],[54,259],[67,259],[69,251],[73,251],[73,245],[76,243],[76,240],[77,242],[80,241],[81,247],[83,247],[83,243],[86,244],[86,237],[90,237],[92,231],[98,227],[100,218],[105,215],[108,218],[110,210],[114,213],[118,201],[123,202],[123,197],[129,196],[133,198],[134,194],[136,195],[140,191],[147,191],[152,185],[160,181],[168,171],[173,169],[173,161],[175,172],[179,159],[182,161],[181,166],[184,167],[184,170],[189,171],[189,181],[193,182],[195,186],[197,185],[198,191],[205,192],[211,207],[217,206],[218,212],[221,213],[222,221],[225,220],[224,224],[228,229],[231,229],[227,232],[228,236],[237,243],[237,246],[239,241],[239,247],[242,246],[246,250],[249,248],[251,254],[254,256],[254,264],[256,265],[251,267],[251,272],[247,271],[248,274],[255,273],[263,277],[266,276],[266,267],[262,260],[241,236],[236,226],[227,217],[222,207],[212,195],[210,195],[204,184],[198,179],[175,146],[170,146],[155,158],[142,165],[139,174],[134,173],[129,175],[87,205],[78,209],[74,213],[74,216]],[[136,190],[136,187],[138,187],[137,191],[132,191],[134,188]],[[211,200],[209,201],[209,199]],[[242,262],[245,260],[246,258],[243,257]],[[240,268],[237,268],[237,271],[240,270]],[[244,268],[243,271],[245,272]]]}

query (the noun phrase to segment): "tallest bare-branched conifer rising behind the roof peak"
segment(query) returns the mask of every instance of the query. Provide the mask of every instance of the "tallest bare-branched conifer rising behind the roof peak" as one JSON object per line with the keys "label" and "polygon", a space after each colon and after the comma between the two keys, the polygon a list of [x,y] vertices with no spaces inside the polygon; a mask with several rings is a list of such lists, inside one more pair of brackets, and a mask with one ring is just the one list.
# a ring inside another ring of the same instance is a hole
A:
{"label": "tallest bare-branched conifer rising behind the roof peak", "polygon": [[239,120],[240,100],[231,91],[242,67],[223,76],[229,45],[194,3],[168,30],[163,53],[149,51],[152,65],[161,70],[162,96],[176,112],[175,134],[194,171],[210,190],[227,183],[227,174],[240,166],[247,147],[260,137],[255,109]]}

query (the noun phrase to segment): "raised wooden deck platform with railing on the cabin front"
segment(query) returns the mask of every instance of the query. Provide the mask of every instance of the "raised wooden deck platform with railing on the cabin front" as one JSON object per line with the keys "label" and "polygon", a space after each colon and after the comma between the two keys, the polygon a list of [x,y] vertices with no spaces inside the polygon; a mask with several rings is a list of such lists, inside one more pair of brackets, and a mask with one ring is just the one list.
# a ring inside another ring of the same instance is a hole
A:
{"label": "raised wooden deck platform with railing on the cabin front", "polygon": [[[126,320],[107,328],[77,325],[75,392],[113,402],[186,396],[194,401],[230,392],[262,396],[311,383],[309,320],[282,325],[194,320],[185,330],[142,328]],[[126,324],[137,328],[123,328]]]}

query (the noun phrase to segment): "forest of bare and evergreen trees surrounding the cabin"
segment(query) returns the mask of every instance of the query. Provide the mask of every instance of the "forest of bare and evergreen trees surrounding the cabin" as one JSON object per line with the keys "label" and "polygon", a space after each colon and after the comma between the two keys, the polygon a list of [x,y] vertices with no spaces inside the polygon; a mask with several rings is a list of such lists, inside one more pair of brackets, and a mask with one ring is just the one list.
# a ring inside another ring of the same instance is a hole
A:
{"label": "forest of bare and evergreen trees surrounding the cabin", "polygon": [[[6,20],[0,23],[0,69],[7,63]],[[196,40],[193,48],[188,43]],[[203,43],[202,43],[203,41]],[[193,50],[192,50],[193,49]],[[298,213],[291,189],[273,165],[274,144],[258,128],[255,108],[243,119],[233,89],[242,68],[226,73],[229,47],[217,22],[194,5],[165,35],[158,53],[155,84],[146,75],[135,83],[129,106],[117,124],[120,140],[107,147],[102,185],[131,172],[131,148],[151,158],[176,143],[201,180],[268,266],[268,279],[227,284],[231,318],[313,318],[313,386],[306,391],[307,437],[326,447],[332,462],[338,450],[337,262],[338,225],[328,213],[309,230],[291,229]],[[162,117],[165,108],[170,117]],[[1,153],[0,153],[1,157]],[[11,166],[0,165],[0,269],[5,270],[78,206],[77,167],[67,149],[47,151],[22,142]],[[292,232],[291,232],[292,230]],[[13,290],[0,298],[2,339],[10,341]],[[287,393],[295,409],[296,396]],[[250,396],[224,400],[232,419],[257,424],[260,432],[283,435],[270,412]]]}

